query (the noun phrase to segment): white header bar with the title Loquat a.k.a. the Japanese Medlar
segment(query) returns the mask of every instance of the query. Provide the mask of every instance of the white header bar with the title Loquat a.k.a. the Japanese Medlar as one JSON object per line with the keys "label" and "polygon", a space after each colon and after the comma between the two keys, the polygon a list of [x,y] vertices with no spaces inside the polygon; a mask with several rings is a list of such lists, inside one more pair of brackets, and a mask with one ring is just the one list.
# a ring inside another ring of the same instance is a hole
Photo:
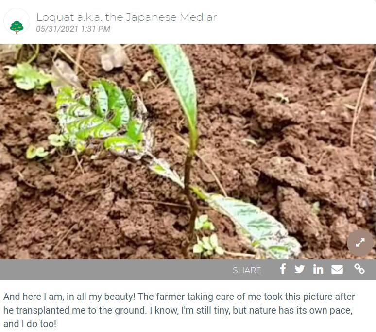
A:
{"label": "white header bar with the title Loquat a.k.a. the Japanese Medlar", "polygon": [[3,43],[375,43],[375,16],[375,0],[18,0],[1,5],[0,35]]}

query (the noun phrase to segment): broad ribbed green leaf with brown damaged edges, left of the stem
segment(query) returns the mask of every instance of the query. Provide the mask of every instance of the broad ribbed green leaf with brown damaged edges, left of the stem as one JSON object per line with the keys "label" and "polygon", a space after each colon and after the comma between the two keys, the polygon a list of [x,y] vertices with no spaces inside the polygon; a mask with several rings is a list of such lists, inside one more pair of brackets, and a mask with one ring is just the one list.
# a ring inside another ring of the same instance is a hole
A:
{"label": "broad ribbed green leaf with brown damaged edges, left of the stem", "polygon": [[[89,146],[95,153],[103,144],[106,150],[132,160],[151,155],[153,137],[141,99],[131,89],[123,91],[104,79],[90,82],[89,87],[89,93],[62,87],[56,95],[56,117],[65,142],[77,152]],[[52,137],[51,144],[62,146],[57,137]]]}

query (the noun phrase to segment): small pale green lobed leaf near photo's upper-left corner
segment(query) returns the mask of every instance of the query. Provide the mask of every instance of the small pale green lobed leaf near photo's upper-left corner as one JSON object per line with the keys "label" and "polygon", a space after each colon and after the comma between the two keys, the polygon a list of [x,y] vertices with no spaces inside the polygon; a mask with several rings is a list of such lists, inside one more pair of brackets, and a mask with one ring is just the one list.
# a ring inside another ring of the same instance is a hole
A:
{"label": "small pale green lobed leaf near photo's upper-left corner", "polygon": [[5,68],[13,77],[16,87],[22,90],[42,89],[52,81],[51,75],[26,62],[18,63],[16,66],[5,66]]}

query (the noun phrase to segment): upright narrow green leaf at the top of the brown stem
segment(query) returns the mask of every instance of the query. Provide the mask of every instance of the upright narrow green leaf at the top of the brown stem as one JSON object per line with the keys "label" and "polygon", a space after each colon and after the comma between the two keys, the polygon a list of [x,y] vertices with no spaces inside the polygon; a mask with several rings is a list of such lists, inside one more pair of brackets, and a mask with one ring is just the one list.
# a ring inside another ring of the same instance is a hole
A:
{"label": "upright narrow green leaf at the top of the brown stem", "polygon": [[177,44],[151,44],[151,48],[165,70],[186,115],[190,149],[194,152],[197,145],[197,96],[188,57]]}

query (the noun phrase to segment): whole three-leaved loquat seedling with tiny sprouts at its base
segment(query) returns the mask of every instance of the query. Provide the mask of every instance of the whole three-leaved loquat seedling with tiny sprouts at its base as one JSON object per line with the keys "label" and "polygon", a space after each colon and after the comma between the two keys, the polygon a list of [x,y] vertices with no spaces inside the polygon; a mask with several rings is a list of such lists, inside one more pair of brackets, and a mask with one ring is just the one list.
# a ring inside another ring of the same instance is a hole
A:
{"label": "whole three-leaved loquat seedling with tiny sprouts at its base", "polygon": [[[154,157],[148,112],[140,98],[131,89],[123,90],[104,79],[92,81],[88,92],[81,92],[73,87],[60,88],[56,95],[56,117],[60,131],[49,137],[51,145],[61,147],[68,144],[75,153],[86,153],[94,158],[109,151],[128,160],[142,160],[154,173],[169,178],[184,190],[192,207],[189,219],[192,236],[195,226],[198,230],[212,231],[214,225],[205,215],[196,219],[197,203],[191,191],[213,210],[227,216],[237,227],[242,239],[252,246],[259,257],[297,257],[300,244],[288,235],[286,228],[273,216],[251,203],[207,193],[190,183],[191,161],[198,138],[196,90],[192,70],[179,46],[158,44],[152,47],[175,89],[188,122],[190,144],[184,180],[171,170],[167,161]],[[29,156],[45,157],[48,154],[43,148],[37,150],[37,154],[34,150],[31,150],[32,153],[29,151]],[[223,253],[215,233],[210,237],[197,238],[193,250],[204,256]]]}

